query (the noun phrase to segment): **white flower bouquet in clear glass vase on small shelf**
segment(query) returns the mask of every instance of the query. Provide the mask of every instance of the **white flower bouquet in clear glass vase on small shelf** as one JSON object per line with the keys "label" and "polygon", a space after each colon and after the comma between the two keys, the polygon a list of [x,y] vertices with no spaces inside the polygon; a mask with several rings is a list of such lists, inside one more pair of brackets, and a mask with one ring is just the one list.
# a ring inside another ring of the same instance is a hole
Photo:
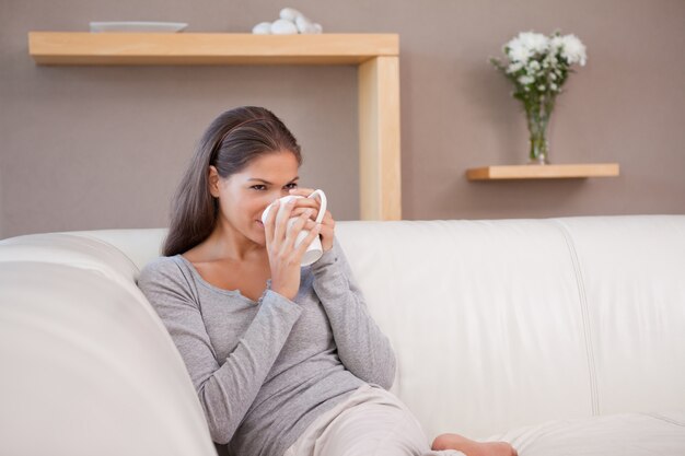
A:
{"label": "white flower bouquet in clear glass vase on small shelf", "polygon": [[495,67],[514,84],[513,97],[525,108],[531,133],[530,160],[534,164],[548,163],[545,131],[554,103],[572,65],[585,65],[585,46],[576,35],[561,36],[559,32],[545,36],[522,32],[504,45],[508,62],[491,58]]}

